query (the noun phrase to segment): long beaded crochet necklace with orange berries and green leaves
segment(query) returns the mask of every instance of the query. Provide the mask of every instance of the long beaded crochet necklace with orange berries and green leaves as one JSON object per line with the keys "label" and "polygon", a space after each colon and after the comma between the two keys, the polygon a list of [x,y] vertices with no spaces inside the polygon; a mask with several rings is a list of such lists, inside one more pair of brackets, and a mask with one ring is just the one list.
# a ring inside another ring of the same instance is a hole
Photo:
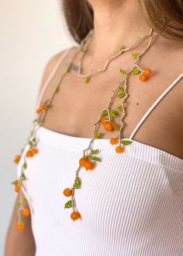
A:
{"label": "long beaded crochet necklace with orange berries and green leaves", "polygon": [[[63,207],[65,209],[72,209],[71,212],[71,219],[74,221],[81,218],[81,212],[78,212],[74,193],[78,189],[81,188],[81,177],[79,177],[79,173],[81,169],[84,169],[86,171],[90,171],[95,169],[96,162],[101,162],[102,159],[97,156],[99,149],[93,149],[92,144],[95,139],[101,139],[102,138],[102,132],[98,132],[98,128],[100,124],[102,124],[103,130],[105,132],[113,132],[114,135],[112,138],[109,139],[109,143],[111,146],[115,147],[114,152],[117,154],[123,153],[125,151],[125,147],[129,146],[133,141],[130,139],[122,139],[121,138],[121,132],[123,129],[123,117],[125,116],[125,100],[128,97],[127,93],[127,85],[129,80],[129,75],[139,75],[139,79],[142,82],[147,81],[149,79],[150,75],[152,74],[150,68],[142,68],[140,67],[140,60],[143,57],[144,54],[147,53],[149,50],[151,43],[154,39],[154,37],[157,36],[157,34],[153,35],[153,30],[150,29],[150,33],[144,35],[143,37],[139,37],[131,46],[125,47],[122,46],[119,49],[119,53],[115,54],[111,58],[107,59],[107,62],[104,66],[104,68],[99,70],[91,70],[88,74],[84,75],[82,74],[82,61],[85,57],[85,53],[87,52],[88,44],[91,40],[91,37],[93,35],[93,30],[90,30],[88,35],[81,41],[80,46],[77,48],[77,51],[74,53],[74,56],[69,61],[67,67],[64,70],[63,75],[60,77],[60,81],[58,82],[57,86],[55,86],[53,93],[51,93],[50,97],[45,100],[44,102],[40,103],[40,107],[36,110],[36,119],[33,121],[33,130],[30,132],[29,138],[27,139],[28,142],[26,142],[25,146],[22,148],[21,153],[14,158],[14,162],[17,164],[21,160],[21,174],[18,180],[12,181],[12,184],[15,185],[15,191],[19,193],[19,202],[16,202],[16,205],[18,207],[18,223],[16,226],[16,230],[23,230],[25,226],[25,219],[29,216],[29,206],[28,201],[23,195],[24,187],[24,181],[26,181],[26,168],[27,168],[27,158],[36,157],[35,155],[39,152],[39,149],[37,148],[37,140],[36,140],[36,131],[38,128],[40,128],[41,124],[43,123],[43,120],[47,114],[47,110],[49,109],[52,101],[54,100],[54,96],[56,93],[60,90],[60,84],[62,82],[62,79],[64,78],[64,75],[69,74],[71,72],[71,69],[75,69],[74,66],[74,60],[78,56],[78,53],[81,53],[81,59],[79,61],[79,67],[78,67],[78,76],[81,78],[84,78],[84,82],[88,83],[91,79],[92,75],[96,75],[100,72],[105,72],[105,70],[108,68],[109,63],[117,58],[120,54],[124,54],[126,51],[129,51],[133,49],[133,47],[140,43],[143,39],[148,39],[147,47],[140,52],[136,53],[133,52],[131,54],[131,57],[134,59],[133,65],[129,70],[125,70],[123,68],[119,68],[119,72],[122,75],[122,79],[119,81],[118,86],[116,89],[112,90],[112,96],[109,100],[108,105],[102,109],[101,113],[99,114],[98,121],[94,124],[94,130],[93,130],[93,138],[89,142],[89,145],[87,149],[83,150],[81,158],[78,160],[78,168],[75,170],[75,177],[74,177],[74,183],[71,187],[67,187],[64,189],[63,194],[67,198],[70,198],[65,202]],[[112,103],[114,100],[119,98],[120,104],[115,109],[112,107]],[[121,125],[117,125],[115,122],[115,117],[120,117],[119,121]],[[115,135],[116,133],[116,135]]]}

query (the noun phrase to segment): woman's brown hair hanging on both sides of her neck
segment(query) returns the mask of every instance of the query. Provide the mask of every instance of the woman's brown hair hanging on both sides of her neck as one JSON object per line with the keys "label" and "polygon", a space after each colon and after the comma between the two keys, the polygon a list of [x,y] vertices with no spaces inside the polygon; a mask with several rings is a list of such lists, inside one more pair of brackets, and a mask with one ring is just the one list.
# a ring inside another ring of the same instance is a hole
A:
{"label": "woman's brown hair hanging on both sides of her neck", "polygon": [[[136,0],[147,23],[163,37],[183,40],[183,0]],[[94,26],[87,0],[62,0],[68,30],[79,44]],[[163,28],[163,29],[162,29]]]}

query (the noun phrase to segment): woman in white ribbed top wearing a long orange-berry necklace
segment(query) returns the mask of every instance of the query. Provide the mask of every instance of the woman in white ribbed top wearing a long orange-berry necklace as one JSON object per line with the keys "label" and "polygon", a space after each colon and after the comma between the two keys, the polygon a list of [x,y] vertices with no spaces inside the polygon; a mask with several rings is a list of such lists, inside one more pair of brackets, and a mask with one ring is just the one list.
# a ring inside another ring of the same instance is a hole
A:
{"label": "woman in white ribbed top wearing a long orange-berry necklace", "polygon": [[45,68],[5,256],[181,256],[183,2],[63,4],[79,46]]}

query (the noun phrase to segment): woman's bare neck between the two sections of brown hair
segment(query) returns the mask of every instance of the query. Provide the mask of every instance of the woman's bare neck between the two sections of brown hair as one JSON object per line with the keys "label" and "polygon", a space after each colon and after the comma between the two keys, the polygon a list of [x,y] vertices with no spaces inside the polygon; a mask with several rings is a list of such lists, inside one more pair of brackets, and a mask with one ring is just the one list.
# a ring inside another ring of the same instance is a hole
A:
{"label": "woman's bare neck between the two sections of brown hair", "polygon": [[109,56],[122,45],[150,32],[136,0],[89,0],[94,10],[94,35],[88,54]]}

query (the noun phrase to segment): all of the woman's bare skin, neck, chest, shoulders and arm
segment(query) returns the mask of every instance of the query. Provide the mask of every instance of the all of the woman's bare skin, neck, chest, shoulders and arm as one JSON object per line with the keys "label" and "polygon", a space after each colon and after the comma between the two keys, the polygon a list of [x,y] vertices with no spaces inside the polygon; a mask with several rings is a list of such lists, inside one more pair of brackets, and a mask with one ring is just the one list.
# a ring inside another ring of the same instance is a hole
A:
{"label": "all of the woman's bare skin, neck, chest, shoulders and arm", "polygon": [[[85,55],[83,63],[85,73],[91,68],[102,68],[106,58],[115,54],[121,45],[128,46],[137,37],[150,31],[150,26],[137,9],[135,0],[91,0],[89,2],[95,13],[95,35]],[[157,37],[141,61],[141,66],[150,68],[153,75],[147,82],[140,82],[138,76],[135,75],[130,77],[123,138],[129,138],[143,114],[164,89],[181,74],[182,44],[181,40]],[[136,52],[143,50],[146,45],[147,41],[137,47]],[[75,47],[60,65],[42,100],[47,100],[50,96],[74,51],[76,51]],[[40,89],[61,54],[63,51],[47,63]],[[74,63],[78,65],[78,61]],[[109,103],[112,89],[116,88],[119,79],[122,78],[119,68],[128,69],[131,64],[129,53],[123,54],[109,65],[106,72],[93,76],[87,85],[74,71],[66,75],[61,83],[60,92],[54,97],[53,107],[50,107],[47,112],[43,126],[66,135],[92,138],[94,123],[98,120],[102,108]],[[182,95],[183,81],[181,79],[150,113],[133,139],[183,159]],[[110,138],[112,135],[112,132],[109,132],[102,138]],[[17,233],[15,230],[16,223],[16,209],[14,209],[6,240],[5,256],[35,255],[36,245],[30,218],[26,219],[26,228],[22,233]]]}

